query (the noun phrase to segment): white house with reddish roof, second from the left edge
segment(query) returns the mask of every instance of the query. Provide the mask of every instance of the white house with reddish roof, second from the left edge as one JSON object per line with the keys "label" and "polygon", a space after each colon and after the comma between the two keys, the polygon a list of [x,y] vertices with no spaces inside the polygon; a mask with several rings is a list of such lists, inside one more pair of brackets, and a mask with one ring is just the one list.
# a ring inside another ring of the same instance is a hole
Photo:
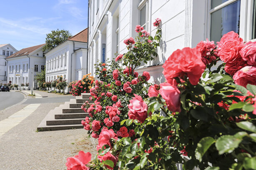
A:
{"label": "white house with reddish roof, second from the left edge", "polygon": [[37,87],[35,75],[45,69],[44,45],[21,49],[6,58],[8,61],[8,82],[12,81],[12,84],[19,86],[22,83],[29,83],[29,88],[32,84],[34,89]]}

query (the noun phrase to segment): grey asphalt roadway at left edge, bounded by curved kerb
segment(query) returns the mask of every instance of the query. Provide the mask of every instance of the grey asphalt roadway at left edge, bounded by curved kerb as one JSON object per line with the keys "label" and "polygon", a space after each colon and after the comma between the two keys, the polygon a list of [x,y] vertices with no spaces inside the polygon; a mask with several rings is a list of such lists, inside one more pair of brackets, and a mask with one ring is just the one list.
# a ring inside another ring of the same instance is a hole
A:
{"label": "grey asphalt roadway at left edge, bounded by curved kerb", "polygon": [[0,92],[0,111],[19,103],[24,99],[24,95],[20,92]]}

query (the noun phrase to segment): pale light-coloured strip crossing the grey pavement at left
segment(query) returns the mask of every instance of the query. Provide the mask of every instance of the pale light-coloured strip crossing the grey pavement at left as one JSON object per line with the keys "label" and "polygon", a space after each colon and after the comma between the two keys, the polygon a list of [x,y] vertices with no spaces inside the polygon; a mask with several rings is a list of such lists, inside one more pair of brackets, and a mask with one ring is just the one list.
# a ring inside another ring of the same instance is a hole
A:
{"label": "pale light-coloured strip crossing the grey pavement at left", "polygon": [[9,116],[3,121],[0,121],[0,136],[2,136],[6,132],[8,132],[11,128],[18,125],[21,121],[27,118],[31,113],[33,113],[38,108],[38,106],[40,106],[40,103],[29,104],[25,108],[14,113],[13,115]]}

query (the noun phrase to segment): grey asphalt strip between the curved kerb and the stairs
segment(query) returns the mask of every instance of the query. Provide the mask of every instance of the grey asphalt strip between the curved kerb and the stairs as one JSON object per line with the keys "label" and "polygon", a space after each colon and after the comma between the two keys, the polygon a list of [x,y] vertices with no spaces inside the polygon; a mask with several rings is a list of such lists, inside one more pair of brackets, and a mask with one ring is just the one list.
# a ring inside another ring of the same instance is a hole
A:
{"label": "grey asphalt strip between the curved kerb and the stairs", "polygon": [[27,99],[23,104],[35,104],[35,103],[62,103],[65,101],[70,101],[70,99],[75,99],[74,96],[60,96],[60,97],[42,97],[42,98],[30,98]]}

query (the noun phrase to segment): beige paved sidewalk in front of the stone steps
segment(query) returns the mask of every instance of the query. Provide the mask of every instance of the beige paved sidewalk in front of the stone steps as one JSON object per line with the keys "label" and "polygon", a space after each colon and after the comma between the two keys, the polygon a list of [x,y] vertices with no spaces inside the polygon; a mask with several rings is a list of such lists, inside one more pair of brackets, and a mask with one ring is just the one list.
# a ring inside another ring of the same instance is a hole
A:
{"label": "beige paved sidewalk in front of the stone steps", "polygon": [[[80,150],[96,154],[97,140],[87,138],[84,129],[36,132],[45,115],[60,104],[40,104],[27,118],[0,136],[0,170],[66,170],[66,159]],[[10,109],[18,110],[18,107]],[[5,113],[3,118],[6,116],[10,115]]]}

